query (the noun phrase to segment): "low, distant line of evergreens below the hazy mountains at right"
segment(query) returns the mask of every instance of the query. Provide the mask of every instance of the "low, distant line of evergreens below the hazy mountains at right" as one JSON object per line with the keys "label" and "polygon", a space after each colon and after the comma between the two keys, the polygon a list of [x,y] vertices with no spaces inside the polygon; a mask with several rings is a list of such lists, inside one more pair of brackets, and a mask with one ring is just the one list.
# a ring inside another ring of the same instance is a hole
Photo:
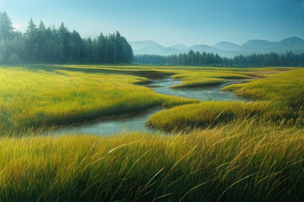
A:
{"label": "low, distant line of evergreens below the hazy mountains at right", "polygon": [[200,53],[190,50],[188,53],[162,55],[136,55],[135,63],[155,65],[194,65],[194,66],[304,66],[304,53],[286,54],[253,53],[250,55],[237,55],[234,58],[220,57],[214,53]]}

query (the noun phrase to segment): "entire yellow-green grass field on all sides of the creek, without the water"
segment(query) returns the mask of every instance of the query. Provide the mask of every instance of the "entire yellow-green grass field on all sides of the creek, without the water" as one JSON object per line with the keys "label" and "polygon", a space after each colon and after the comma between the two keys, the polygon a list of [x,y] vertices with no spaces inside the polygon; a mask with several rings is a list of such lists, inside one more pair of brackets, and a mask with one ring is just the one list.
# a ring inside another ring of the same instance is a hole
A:
{"label": "entire yellow-green grass field on all sides of the creek, without the water", "polygon": [[[199,102],[171,88],[249,102]],[[0,67],[0,201],[301,202],[304,69],[112,65]],[[162,106],[163,133],[45,135],[52,127]]]}

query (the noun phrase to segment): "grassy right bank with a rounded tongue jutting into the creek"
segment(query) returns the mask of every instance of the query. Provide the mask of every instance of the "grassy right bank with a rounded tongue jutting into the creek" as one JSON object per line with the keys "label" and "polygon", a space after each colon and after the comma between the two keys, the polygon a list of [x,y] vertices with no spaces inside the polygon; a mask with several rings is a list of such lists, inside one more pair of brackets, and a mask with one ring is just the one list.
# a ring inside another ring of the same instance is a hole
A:
{"label": "grassy right bank with a rounded tongue jutting into the creek", "polygon": [[233,84],[223,90],[256,102],[201,102],[153,114],[147,125],[166,131],[208,127],[229,123],[245,117],[260,117],[264,121],[304,121],[304,70],[273,74],[249,83]]}

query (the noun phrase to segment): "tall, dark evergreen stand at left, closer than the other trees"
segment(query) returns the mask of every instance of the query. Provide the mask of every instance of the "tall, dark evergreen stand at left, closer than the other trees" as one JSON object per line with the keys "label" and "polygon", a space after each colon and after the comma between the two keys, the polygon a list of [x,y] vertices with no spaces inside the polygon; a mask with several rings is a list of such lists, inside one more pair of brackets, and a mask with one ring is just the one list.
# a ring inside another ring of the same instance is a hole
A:
{"label": "tall, dark evergreen stand at left, closer than the other trees", "polygon": [[15,31],[6,12],[0,12],[0,63],[129,63],[133,50],[119,32],[102,33],[92,39],[69,31],[64,23],[58,29],[37,26],[31,18],[25,33]]}

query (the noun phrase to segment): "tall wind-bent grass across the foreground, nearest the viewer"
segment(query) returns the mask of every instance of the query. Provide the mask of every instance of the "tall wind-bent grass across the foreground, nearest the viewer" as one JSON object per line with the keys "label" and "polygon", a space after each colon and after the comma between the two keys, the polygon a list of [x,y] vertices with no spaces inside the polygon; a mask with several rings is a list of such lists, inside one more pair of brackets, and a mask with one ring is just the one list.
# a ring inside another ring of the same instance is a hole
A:
{"label": "tall wind-bent grass across the foreground, nearest the viewer", "polygon": [[301,201],[303,133],[252,119],[169,136],[2,138],[0,201]]}

